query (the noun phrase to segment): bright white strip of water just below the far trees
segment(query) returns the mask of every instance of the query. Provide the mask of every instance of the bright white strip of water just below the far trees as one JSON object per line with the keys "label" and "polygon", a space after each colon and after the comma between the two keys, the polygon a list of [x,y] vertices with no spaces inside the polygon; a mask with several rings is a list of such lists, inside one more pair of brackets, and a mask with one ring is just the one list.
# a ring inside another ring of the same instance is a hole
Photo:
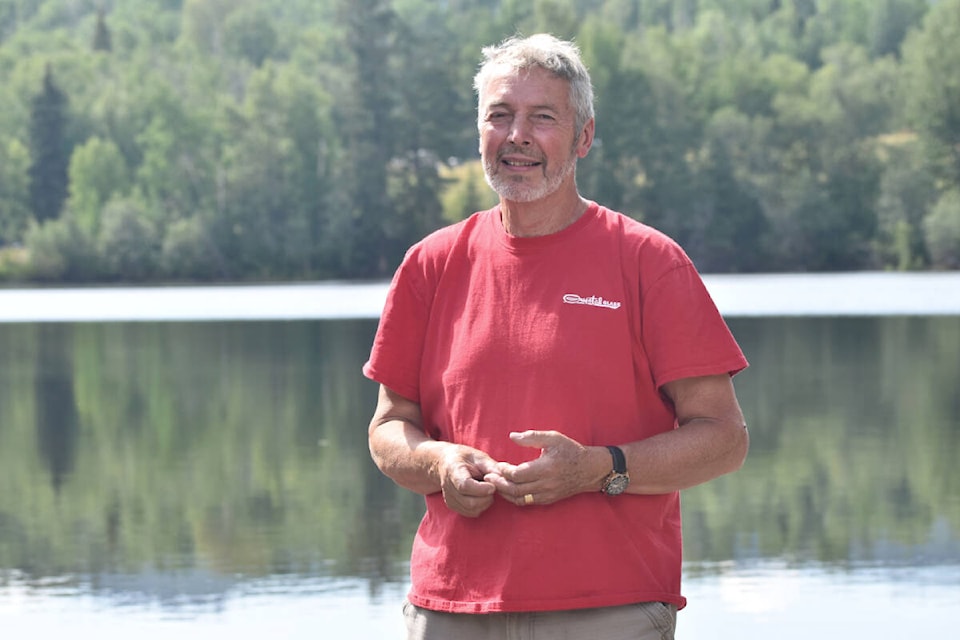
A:
{"label": "bright white strip of water just below the far trees", "polygon": [[[726,317],[960,316],[960,271],[704,275]],[[0,323],[376,319],[388,281],[0,289]]]}

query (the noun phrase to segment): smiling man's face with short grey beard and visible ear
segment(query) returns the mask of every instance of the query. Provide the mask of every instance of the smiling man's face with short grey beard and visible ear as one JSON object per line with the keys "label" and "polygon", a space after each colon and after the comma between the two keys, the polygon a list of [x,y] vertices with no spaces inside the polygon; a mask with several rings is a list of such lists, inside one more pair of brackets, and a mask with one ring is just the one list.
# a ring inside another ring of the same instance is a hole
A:
{"label": "smiling man's face with short grey beard and visible ear", "polygon": [[480,155],[501,198],[533,202],[569,183],[592,142],[593,121],[574,129],[566,80],[539,67],[493,76],[480,96]]}

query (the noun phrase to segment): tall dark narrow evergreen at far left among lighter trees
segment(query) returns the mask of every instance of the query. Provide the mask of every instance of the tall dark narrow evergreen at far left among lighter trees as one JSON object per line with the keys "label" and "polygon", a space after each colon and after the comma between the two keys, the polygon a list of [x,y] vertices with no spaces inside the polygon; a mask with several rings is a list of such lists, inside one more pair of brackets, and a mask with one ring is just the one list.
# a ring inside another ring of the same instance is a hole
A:
{"label": "tall dark narrow evergreen at far left among lighter trees", "polygon": [[30,110],[30,208],[38,222],[59,217],[67,199],[66,107],[67,96],[47,65],[43,91],[34,97]]}

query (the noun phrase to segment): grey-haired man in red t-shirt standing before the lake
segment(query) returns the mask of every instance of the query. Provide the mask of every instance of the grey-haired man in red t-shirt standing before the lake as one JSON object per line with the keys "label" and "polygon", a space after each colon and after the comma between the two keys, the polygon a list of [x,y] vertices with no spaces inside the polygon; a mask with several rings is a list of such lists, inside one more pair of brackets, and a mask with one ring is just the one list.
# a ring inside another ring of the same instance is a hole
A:
{"label": "grey-haired man in red t-shirt standing before the lake", "polygon": [[427,505],[408,637],[672,638],[679,491],[742,465],[747,363],[684,252],[580,196],[577,48],[483,53],[499,206],[408,251],[364,365],[373,459]]}

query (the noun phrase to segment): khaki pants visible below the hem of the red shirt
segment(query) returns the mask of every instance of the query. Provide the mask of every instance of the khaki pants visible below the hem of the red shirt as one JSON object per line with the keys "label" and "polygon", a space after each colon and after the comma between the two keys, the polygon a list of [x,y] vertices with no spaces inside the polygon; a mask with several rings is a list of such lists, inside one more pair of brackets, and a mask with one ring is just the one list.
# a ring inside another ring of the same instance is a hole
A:
{"label": "khaki pants visible below the hem of the red shirt", "polygon": [[673,640],[677,608],[660,602],[531,613],[440,613],[404,602],[407,640]]}

